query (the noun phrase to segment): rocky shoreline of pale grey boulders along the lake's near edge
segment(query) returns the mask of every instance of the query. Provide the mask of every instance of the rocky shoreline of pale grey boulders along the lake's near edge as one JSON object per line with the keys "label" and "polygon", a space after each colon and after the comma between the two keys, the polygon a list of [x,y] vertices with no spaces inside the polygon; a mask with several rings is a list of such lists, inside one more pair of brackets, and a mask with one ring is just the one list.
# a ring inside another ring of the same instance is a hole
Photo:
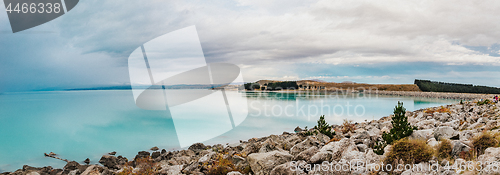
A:
{"label": "rocky shoreline of pale grey boulders along the lake's near edge", "polygon": [[[460,97],[465,99],[469,96]],[[446,170],[444,165],[465,161],[461,158],[462,154],[476,149],[473,143],[474,138],[486,131],[495,134],[499,132],[499,107],[500,105],[496,103],[480,104],[475,101],[466,101],[463,104],[407,111],[408,122],[418,128],[411,134],[410,140],[423,140],[427,146],[433,149],[437,149],[436,147],[445,140],[451,142],[450,158],[440,159],[433,155],[429,161],[417,164],[424,167],[418,171],[386,172],[374,168],[384,165],[384,160],[392,149],[392,146],[388,145],[382,155],[376,154],[374,149],[374,145],[381,139],[382,133],[388,132],[392,128],[391,116],[387,116],[379,120],[353,123],[348,132],[345,132],[345,125],[332,125],[332,134],[335,131],[333,138],[320,132],[314,132],[315,129],[304,130],[297,127],[296,132],[252,138],[240,141],[239,144],[235,145],[206,146],[197,143],[187,150],[180,151],[166,151],[165,149],[160,151],[154,148],[150,152],[141,151],[130,160],[111,153],[102,156],[100,164],[81,165],[71,161],[62,169],[54,169],[50,166],[35,168],[25,165],[22,169],[2,173],[2,175],[492,174],[491,171]],[[474,161],[500,161],[498,142],[497,145],[485,149],[484,153],[478,153],[474,157]],[[324,162],[328,164],[323,167],[356,165],[363,168],[349,168],[346,171],[337,171],[333,168],[322,169]],[[437,169],[425,168],[431,167],[433,163],[442,166]],[[491,165],[488,166],[491,169]],[[484,168],[486,169],[488,166],[484,166]]]}

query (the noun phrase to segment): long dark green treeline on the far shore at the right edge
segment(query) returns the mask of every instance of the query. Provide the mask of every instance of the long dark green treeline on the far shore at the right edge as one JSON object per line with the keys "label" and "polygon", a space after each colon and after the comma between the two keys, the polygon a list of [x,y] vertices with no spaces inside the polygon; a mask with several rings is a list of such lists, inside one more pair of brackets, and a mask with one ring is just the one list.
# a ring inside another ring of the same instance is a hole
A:
{"label": "long dark green treeline on the far shore at the right edge", "polygon": [[475,86],[472,84],[446,83],[430,80],[415,79],[415,84],[424,92],[455,92],[477,94],[500,94],[500,88]]}

